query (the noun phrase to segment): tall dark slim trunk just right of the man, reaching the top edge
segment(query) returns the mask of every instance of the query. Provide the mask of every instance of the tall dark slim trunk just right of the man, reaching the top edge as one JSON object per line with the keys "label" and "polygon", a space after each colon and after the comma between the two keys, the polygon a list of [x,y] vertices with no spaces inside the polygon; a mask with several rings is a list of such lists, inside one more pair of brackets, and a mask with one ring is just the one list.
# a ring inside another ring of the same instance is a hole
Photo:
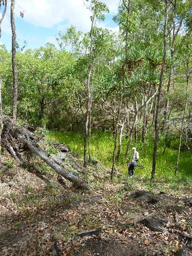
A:
{"label": "tall dark slim trunk just right of the man, reaching the top edge", "polygon": [[151,179],[154,179],[155,169],[156,169],[156,159],[157,159],[157,142],[159,137],[159,111],[160,111],[160,96],[163,85],[163,73],[165,69],[166,63],[166,34],[167,34],[167,20],[168,20],[168,0],[165,0],[165,23],[164,23],[164,32],[163,32],[163,63],[160,71],[160,80],[157,94],[157,109],[154,118],[154,129],[155,129],[155,138],[154,138],[154,149],[153,149],[153,166],[151,171]]}

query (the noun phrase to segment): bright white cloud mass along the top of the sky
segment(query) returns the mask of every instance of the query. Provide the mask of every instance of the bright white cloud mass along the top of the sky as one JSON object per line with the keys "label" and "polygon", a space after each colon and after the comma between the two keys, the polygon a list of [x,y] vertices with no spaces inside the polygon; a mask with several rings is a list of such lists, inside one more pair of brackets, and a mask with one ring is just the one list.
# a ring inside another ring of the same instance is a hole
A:
{"label": "bright white cloud mass along the top of the sky", "polygon": [[[103,0],[110,12],[116,12],[119,0]],[[50,28],[59,23],[71,24],[82,31],[90,29],[90,11],[83,0],[17,0],[16,15],[24,10],[27,22],[39,27]]]}

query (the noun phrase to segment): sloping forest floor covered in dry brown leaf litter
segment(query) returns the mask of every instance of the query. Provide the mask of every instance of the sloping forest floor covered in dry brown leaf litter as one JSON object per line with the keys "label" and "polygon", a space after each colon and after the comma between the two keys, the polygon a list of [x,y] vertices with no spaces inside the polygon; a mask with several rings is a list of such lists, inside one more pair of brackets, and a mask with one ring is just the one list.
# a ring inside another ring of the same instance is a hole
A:
{"label": "sloping forest floor covered in dry brown leaf litter", "polygon": [[42,175],[1,156],[0,255],[192,255],[189,180],[151,182],[136,170],[111,181],[97,163],[83,175],[91,189],[82,191],[66,180],[61,185],[38,161]]}

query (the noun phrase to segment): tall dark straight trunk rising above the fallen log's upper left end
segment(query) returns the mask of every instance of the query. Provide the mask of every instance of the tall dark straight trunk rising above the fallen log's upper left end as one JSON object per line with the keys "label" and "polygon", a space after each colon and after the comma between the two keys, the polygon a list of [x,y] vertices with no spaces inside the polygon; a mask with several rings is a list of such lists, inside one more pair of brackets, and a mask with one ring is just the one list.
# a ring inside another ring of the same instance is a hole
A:
{"label": "tall dark straight trunk rising above the fallen log's upper left end", "polygon": [[17,63],[16,63],[16,30],[15,30],[15,0],[11,2],[11,27],[12,27],[12,70],[13,70],[13,106],[12,106],[12,119],[15,121],[17,118]]}

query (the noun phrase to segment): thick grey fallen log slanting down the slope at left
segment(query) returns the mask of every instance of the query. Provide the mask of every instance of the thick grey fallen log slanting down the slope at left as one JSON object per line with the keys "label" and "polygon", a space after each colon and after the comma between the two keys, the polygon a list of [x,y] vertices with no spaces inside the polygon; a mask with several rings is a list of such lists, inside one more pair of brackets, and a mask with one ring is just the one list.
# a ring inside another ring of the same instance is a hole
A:
{"label": "thick grey fallen log slanting down the slope at left", "polygon": [[89,185],[86,181],[77,177],[70,171],[64,168],[60,163],[52,159],[51,155],[44,151],[42,148],[38,146],[35,142],[35,137],[31,134],[29,130],[23,127],[19,127],[10,117],[3,115],[3,129],[6,132],[12,134],[14,138],[16,138],[19,143],[24,144],[29,150],[31,150],[34,154],[44,160],[52,169],[58,172],[65,179],[70,180],[76,186],[79,186],[84,189],[88,189]]}

